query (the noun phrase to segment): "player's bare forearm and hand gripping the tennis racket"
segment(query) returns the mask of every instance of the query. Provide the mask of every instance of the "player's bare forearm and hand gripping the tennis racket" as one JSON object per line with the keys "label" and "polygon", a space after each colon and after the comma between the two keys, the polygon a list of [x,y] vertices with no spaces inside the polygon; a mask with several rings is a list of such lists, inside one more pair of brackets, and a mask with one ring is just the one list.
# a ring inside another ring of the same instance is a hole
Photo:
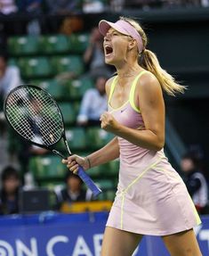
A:
{"label": "player's bare forearm and hand gripping the tennis racket", "polygon": [[76,173],[78,165],[82,166],[84,170],[87,170],[108,161],[115,160],[119,155],[118,140],[117,137],[114,137],[107,145],[100,148],[100,150],[86,157],[73,154],[68,157],[68,160],[63,159],[62,163],[66,164],[68,169]]}

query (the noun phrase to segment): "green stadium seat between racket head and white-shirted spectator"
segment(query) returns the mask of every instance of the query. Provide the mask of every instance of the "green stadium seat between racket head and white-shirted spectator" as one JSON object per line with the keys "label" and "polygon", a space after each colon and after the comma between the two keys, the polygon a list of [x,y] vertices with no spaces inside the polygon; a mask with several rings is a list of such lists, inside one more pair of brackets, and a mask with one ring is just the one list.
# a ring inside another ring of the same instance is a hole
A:
{"label": "green stadium seat between racket head and white-shirted spectator", "polygon": [[62,102],[59,106],[66,125],[76,122],[76,111],[72,103]]}

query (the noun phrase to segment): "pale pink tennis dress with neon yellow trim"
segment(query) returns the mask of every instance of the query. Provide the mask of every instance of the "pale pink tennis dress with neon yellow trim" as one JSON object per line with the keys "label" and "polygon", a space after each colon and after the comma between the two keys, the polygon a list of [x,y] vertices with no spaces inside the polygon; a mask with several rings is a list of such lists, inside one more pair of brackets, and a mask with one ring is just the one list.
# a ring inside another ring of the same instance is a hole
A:
{"label": "pale pink tennis dress with neon yellow trim", "polygon": [[[144,125],[134,105],[134,91],[142,71],[134,80],[129,100],[109,111],[129,128]],[[109,102],[117,84],[114,78]],[[186,186],[165,157],[118,137],[120,170],[117,194],[107,222],[108,227],[141,235],[171,235],[201,223]]]}

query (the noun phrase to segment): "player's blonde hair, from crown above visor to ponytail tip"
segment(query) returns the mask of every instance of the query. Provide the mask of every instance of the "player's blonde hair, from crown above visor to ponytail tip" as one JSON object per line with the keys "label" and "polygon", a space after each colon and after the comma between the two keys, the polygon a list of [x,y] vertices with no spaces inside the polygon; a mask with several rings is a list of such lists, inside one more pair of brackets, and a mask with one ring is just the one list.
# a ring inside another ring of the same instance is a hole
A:
{"label": "player's blonde hair, from crown above visor to ponytail tip", "polygon": [[158,79],[161,87],[168,95],[175,95],[176,93],[183,93],[186,87],[178,84],[172,75],[170,75],[166,70],[162,69],[158,60],[157,55],[146,49],[148,44],[148,37],[146,36],[141,25],[134,21],[133,19],[120,17],[120,20],[129,22],[134,29],[138,31],[141,35],[143,50],[139,55],[139,64],[145,70],[149,70]]}

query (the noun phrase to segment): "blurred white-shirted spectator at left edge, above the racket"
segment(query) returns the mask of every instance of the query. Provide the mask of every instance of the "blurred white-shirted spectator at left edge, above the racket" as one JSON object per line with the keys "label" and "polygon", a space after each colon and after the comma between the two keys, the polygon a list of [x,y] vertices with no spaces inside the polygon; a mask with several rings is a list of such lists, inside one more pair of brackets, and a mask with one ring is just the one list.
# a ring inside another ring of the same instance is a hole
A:
{"label": "blurred white-shirted spectator at left edge, above the racket", "polygon": [[0,53],[0,97],[4,100],[14,87],[21,84],[20,70],[8,65],[7,54]]}

